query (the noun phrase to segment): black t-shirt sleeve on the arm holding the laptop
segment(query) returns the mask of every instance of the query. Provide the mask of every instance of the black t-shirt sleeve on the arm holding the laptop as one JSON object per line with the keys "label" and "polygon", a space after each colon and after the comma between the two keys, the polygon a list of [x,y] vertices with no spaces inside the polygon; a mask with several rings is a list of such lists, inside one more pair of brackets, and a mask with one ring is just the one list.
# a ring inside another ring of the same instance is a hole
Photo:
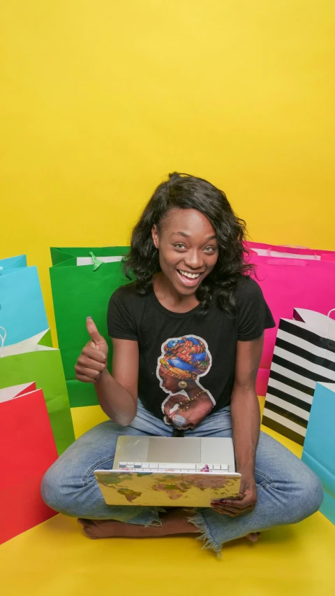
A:
{"label": "black t-shirt sleeve on the arm holding the laptop", "polygon": [[265,329],[276,327],[263,292],[251,277],[246,276],[237,296],[237,339],[252,341],[258,339]]}

